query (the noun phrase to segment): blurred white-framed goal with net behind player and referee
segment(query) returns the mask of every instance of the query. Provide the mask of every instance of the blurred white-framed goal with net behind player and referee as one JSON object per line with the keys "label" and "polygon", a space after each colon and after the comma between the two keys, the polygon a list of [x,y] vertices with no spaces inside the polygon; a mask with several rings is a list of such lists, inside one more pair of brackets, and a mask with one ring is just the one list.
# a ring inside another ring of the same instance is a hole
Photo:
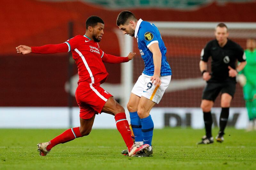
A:
{"label": "blurred white-framed goal with net behind player and referee", "polygon": [[[214,28],[220,22],[158,22],[155,24],[167,48],[167,61],[172,68],[172,80],[156,107],[199,107],[205,82],[199,70],[200,53],[205,44],[214,39]],[[256,23],[225,22],[228,26],[231,40],[244,49],[247,38],[256,38]],[[144,63],[140,57],[137,42],[134,37],[115,31],[121,50],[121,55],[136,52],[132,62],[122,64],[121,68],[121,104],[126,107],[130,93],[137,78],[141,75]],[[121,34],[120,34],[121,33]],[[208,62],[210,69],[210,62]],[[120,94],[119,94],[120,96]],[[219,107],[219,97],[214,107]],[[237,85],[232,101],[233,107],[244,107],[242,88]]]}

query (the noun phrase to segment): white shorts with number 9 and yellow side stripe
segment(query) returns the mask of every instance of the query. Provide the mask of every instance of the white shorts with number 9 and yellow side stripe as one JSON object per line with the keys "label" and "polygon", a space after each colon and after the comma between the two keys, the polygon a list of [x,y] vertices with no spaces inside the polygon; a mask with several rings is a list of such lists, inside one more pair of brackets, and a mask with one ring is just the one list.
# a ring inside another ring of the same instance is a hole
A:
{"label": "white shorts with number 9 and yellow side stripe", "polygon": [[164,91],[170,84],[171,77],[172,76],[161,76],[161,85],[156,86],[151,83],[151,76],[142,73],[133,86],[132,93],[139,97],[144,96],[158,104],[164,95]]}

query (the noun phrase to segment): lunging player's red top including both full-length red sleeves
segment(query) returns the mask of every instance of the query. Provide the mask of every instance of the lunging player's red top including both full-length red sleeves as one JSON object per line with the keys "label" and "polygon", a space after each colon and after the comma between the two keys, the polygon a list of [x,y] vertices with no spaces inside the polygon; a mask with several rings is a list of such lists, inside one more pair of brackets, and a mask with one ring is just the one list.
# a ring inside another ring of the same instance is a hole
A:
{"label": "lunging player's red top including both full-length red sleeves", "polygon": [[78,82],[104,83],[108,72],[103,62],[124,63],[128,57],[116,57],[105,54],[97,42],[86,35],[77,35],[62,44],[48,44],[41,47],[31,47],[32,53],[52,54],[60,52],[72,52],[73,59],[78,68]]}

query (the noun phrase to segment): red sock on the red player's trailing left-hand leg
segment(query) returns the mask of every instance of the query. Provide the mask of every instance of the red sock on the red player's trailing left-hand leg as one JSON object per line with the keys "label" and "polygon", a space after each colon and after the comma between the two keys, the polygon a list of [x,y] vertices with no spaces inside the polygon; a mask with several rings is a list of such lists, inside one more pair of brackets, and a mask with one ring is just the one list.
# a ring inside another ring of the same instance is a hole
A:
{"label": "red sock on the red player's trailing left-hand leg", "polygon": [[82,137],[79,127],[71,128],[60,134],[59,136],[55,137],[49,142],[49,145],[46,147],[47,151],[50,151],[53,146],[57,144],[64,144],[68,141],[74,140],[77,137]]}

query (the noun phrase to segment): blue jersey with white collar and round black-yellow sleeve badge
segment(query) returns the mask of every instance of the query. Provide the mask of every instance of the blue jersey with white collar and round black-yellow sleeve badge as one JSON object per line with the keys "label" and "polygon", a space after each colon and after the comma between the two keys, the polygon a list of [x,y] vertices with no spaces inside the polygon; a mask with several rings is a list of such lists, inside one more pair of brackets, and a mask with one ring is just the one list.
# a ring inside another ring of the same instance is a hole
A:
{"label": "blue jersey with white collar and round black-yellow sleeve badge", "polygon": [[166,47],[164,46],[164,41],[160,35],[159,30],[154,24],[147,21],[139,19],[137,26],[135,28],[134,36],[138,42],[138,48],[140,50],[140,55],[144,60],[145,68],[143,73],[148,76],[154,75],[154,62],[153,54],[148,49],[148,47],[153,43],[158,43],[160,51],[162,53],[162,63],[161,63],[161,74],[160,76],[172,75],[172,70],[169,63],[166,60]]}

